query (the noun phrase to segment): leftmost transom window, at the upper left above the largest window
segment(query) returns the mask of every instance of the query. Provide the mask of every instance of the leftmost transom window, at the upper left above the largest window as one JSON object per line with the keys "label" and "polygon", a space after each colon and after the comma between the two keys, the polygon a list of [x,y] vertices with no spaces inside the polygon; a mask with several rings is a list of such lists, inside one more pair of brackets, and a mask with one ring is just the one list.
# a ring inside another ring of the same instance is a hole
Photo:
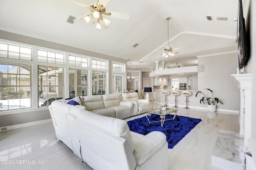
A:
{"label": "leftmost transom window, at the upper left above the largest window", "polygon": [[0,43],[0,57],[31,61],[32,48]]}

